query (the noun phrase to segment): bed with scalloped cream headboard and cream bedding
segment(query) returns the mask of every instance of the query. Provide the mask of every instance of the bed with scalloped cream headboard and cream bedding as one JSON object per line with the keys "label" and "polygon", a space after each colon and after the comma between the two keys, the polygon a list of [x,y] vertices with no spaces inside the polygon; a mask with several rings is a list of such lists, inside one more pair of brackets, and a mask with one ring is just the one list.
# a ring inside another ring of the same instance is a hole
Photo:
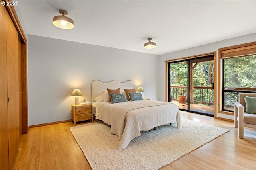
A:
{"label": "bed with scalloped cream headboard and cream bedding", "polygon": [[103,96],[107,88],[120,88],[120,93],[124,93],[124,89],[133,89],[133,82],[131,80],[126,82],[113,80],[107,83],[94,80],[92,82],[92,106],[95,117],[110,125],[111,133],[118,135],[120,141],[118,149],[125,149],[132,139],[140,136],[140,131],[149,131],[168,123],[177,123],[177,128],[181,128],[181,117],[177,105],[157,100],[104,102]]}

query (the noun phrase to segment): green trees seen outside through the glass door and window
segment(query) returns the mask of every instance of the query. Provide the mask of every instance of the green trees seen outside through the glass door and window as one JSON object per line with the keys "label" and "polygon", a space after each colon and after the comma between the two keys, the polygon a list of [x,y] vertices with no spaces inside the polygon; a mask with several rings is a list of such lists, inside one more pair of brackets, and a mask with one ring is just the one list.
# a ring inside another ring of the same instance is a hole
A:
{"label": "green trees seen outside through the glass door and window", "polygon": [[[224,63],[224,86],[227,88],[256,88],[256,55],[226,58]],[[197,64],[197,65],[196,65]],[[214,61],[192,63],[193,86],[212,86],[214,79]],[[207,70],[207,72],[204,70]],[[170,63],[170,86],[188,85],[188,64],[183,62]],[[170,94],[186,95],[186,88],[170,89]],[[211,101],[213,90],[194,90],[194,100],[206,103]],[[238,100],[238,93],[225,92],[225,105],[232,107]],[[205,101],[201,101],[205,100]]]}

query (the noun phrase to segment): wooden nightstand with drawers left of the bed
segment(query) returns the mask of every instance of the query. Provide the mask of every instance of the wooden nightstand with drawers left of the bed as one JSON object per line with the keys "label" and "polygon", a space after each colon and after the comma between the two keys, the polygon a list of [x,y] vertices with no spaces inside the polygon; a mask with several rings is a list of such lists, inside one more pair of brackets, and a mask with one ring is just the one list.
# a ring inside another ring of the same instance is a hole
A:
{"label": "wooden nightstand with drawers left of the bed", "polygon": [[74,121],[74,125],[76,125],[76,122],[78,121],[85,121],[85,120],[93,121],[92,104],[84,104],[84,105],[72,104],[71,112],[72,112],[72,121]]}

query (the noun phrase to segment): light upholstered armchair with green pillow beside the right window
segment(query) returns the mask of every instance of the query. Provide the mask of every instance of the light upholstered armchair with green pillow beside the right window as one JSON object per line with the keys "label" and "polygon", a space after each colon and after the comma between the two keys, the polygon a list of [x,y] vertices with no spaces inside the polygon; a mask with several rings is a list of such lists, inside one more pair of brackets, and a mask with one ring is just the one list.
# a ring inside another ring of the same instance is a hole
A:
{"label": "light upholstered armchair with green pillow beside the right window", "polygon": [[[235,102],[235,127],[238,128],[239,138],[244,138],[244,127],[256,128],[256,114],[246,113],[246,101],[244,100],[244,96],[256,97],[256,94],[241,93],[239,102]],[[248,98],[246,100],[248,101]],[[252,100],[250,102],[252,102]],[[247,105],[248,104],[247,102]],[[256,103],[252,105],[256,106]],[[254,113],[255,112],[256,110],[254,110]]]}

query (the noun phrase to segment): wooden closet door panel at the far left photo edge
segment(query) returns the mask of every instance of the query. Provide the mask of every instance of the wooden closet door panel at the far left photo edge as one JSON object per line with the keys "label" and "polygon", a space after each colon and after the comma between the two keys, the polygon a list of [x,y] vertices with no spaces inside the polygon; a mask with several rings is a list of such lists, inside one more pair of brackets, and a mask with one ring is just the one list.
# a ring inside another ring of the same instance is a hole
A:
{"label": "wooden closet door panel at the far left photo edge", "polygon": [[7,104],[7,27],[9,17],[4,6],[0,6],[0,169],[9,169],[8,150],[8,104]]}

